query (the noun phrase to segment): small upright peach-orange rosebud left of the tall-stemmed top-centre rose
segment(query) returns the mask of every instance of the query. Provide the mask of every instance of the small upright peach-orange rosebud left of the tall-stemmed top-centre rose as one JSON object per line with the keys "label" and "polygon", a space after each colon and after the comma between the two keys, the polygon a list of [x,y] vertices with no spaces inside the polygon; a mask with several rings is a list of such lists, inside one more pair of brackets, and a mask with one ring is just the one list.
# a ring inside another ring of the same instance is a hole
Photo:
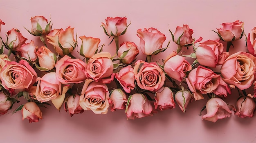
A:
{"label": "small upright peach-orange rosebud left of the tall-stemmed top-centre rose", "polygon": [[91,58],[98,50],[98,45],[101,40],[93,37],[79,37],[82,40],[80,55],[86,58]]}

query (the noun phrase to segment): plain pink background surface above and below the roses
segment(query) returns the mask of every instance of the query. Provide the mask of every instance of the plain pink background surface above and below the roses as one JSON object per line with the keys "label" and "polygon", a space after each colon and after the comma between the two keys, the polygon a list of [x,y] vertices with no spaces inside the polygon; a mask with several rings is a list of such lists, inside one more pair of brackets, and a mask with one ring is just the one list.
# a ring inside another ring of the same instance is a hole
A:
{"label": "plain pink background surface above and below the roses", "polygon": [[[168,25],[174,32],[176,26],[189,24],[193,37],[201,36],[205,41],[218,38],[211,30],[220,28],[221,23],[241,20],[248,35],[256,26],[255,5],[254,0],[0,0],[0,19],[6,23],[0,36],[6,40],[4,33],[18,28],[27,42],[34,40],[41,45],[23,26],[30,29],[30,18],[36,15],[48,20],[51,15],[52,28],[71,26],[78,37],[98,37],[101,44],[106,44],[103,50],[113,55],[115,44],[108,46],[110,39],[100,27],[106,17],[126,16],[132,22],[120,43],[133,41],[139,46],[137,29],[154,27],[166,35],[166,46],[171,40]],[[78,41],[80,46],[79,38]],[[244,49],[245,37],[234,45],[232,52]],[[177,45],[171,41],[170,47],[153,58],[165,59]],[[140,58],[144,59],[144,55],[140,54]],[[235,91],[225,101],[235,105],[237,98]],[[0,117],[0,142],[256,142],[256,117],[241,119],[232,114],[216,123],[202,121],[198,114],[206,102],[192,102],[186,113],[176,106],[135,120],[127,120],[124,111],[110,110],[106,115],[85,111],[70,117],[63,108],[57,111],[52,105],[41,108],[43,120],[29,124],[28,120],[22,121],[20,112],[12,115],[9,111]]]}

